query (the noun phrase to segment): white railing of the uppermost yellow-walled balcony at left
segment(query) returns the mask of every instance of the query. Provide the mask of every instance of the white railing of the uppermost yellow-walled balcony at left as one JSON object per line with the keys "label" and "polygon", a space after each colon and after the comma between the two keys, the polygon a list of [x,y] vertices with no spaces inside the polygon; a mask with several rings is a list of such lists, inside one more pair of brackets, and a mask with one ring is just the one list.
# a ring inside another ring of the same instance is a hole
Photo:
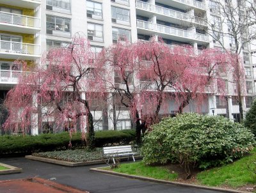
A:
{"label": "white railing of the uppermost yellow-walled balcony at left", "polygon": [[14,13],[0,12],[0,22],[25,27],[40,27],[39,18]]}

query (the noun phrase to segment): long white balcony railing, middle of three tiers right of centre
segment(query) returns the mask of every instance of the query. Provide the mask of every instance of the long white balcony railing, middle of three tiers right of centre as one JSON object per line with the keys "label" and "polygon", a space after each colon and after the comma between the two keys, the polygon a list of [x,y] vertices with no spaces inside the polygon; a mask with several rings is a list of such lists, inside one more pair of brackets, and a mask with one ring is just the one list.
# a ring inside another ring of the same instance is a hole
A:
{"label": "long white balcony railing, middle of three tiers right of centre", "polygon": [[207,22],[200,17],[195,17],[193,15],[189,15],[186,13],[177,12],[175,10],[170,10],[168,8],[163,8],[161,6],[156,6],[154,4],[145,3],[143,1],[136,1],[136,7],[141,8],[143,10],[147,10],[149,12],[155,12],[170,17],[175,17],[176,19],[186,20],[188,22],[195,22],[196,24],[201,24],[205,26],[207,25]]}

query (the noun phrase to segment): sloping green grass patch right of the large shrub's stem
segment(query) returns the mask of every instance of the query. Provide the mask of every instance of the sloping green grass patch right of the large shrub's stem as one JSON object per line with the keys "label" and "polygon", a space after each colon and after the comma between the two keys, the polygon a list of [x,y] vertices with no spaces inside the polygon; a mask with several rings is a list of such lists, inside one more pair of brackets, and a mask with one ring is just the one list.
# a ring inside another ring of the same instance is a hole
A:
{"label": "sloping green grass patch right of the large shrub's stem", "polygon": [[247,169],[247,163],[252,162],[256,162],[256,148],[252,151],[252,155],[243,157],[227,166],[216,167],[198,173],[196,178],[203,185],[209,186],[228,185],[236,188],[243,185],[255,184],[256,174],[253,174]]}

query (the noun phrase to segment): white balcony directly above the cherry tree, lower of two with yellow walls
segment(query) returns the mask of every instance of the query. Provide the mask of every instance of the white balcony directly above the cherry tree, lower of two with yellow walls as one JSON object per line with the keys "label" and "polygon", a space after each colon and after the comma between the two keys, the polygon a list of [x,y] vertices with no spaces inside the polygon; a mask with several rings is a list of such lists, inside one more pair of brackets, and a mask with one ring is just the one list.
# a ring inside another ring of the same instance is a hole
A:
{"label": "white balcony directly above the cherry tree, lower of two with yellow walls", "polygon": [[28,59],[40,58],[40,45],[31,43],[8,42],[0,40],[0,58]]}

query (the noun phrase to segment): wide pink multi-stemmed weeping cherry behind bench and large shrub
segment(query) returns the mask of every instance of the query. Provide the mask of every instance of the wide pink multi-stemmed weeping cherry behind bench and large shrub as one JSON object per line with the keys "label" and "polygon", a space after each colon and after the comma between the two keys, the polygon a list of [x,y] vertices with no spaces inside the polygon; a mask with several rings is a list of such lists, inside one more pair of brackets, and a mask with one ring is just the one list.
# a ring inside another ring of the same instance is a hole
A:
{"label": "wide pink multi-stemmed weeping cherry behind bench and large shrub", "polygon": [[191,47],[156,41],[118,42],[104,50],[102,64],[106,63],[106,88],[129,110],[139,143],[141,130],[157,123],[161,110],[170,113],[164,100],[176,100],[181,113],[190,100],[202,102],[214,92],[214,86],[205,90],[209,84],[220,87],[218,71],[227,65],[227,57],[214,49],[198,56]]}

